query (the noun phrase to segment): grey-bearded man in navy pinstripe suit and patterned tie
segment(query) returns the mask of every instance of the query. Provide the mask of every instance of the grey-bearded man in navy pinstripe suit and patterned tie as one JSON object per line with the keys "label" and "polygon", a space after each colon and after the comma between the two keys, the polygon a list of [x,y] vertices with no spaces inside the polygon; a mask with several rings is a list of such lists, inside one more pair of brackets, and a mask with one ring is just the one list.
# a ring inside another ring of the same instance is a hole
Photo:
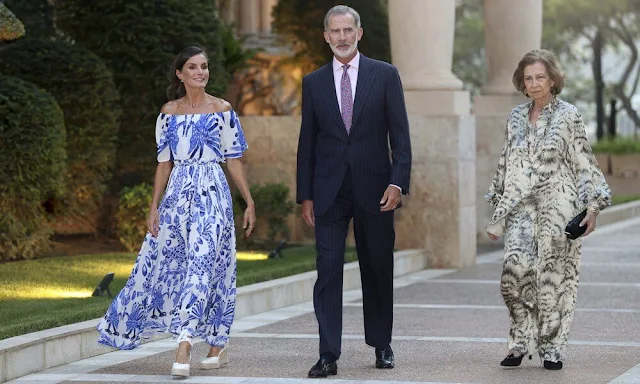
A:
{"label": "grey-bearded man in navy pinstripe suit and patterned tie", "polygon": [[[315,227],[318,280],[313,304],[320,359],[309,377],[337,374],[342,275],[351,218],[364,305],[365,341],[377,368],[393,368],[394,210],[409,192],[411,142],[397,69],[358,52],[360,15],[333,7],[324,20],[332,62],[302,81],[297,197]],[[391,149],[391,151],[390,151]]]}

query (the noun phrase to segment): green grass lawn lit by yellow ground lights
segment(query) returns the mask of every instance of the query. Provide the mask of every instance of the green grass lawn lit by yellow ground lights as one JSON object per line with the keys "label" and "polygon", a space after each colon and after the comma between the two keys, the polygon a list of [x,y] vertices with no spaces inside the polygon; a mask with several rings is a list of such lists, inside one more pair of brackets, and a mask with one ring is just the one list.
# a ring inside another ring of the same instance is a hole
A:
{"label": "green grass lawn lit by yellow ground lights", "polygon": [[[239,257],[251,253],[238,253]],[[91,297],[102,277],[114,272],[115,295],[126,283],[136,255],[109,253],[51,257],[0,264],[0,340],[104,315],[108,297]],[[355,251],[347,261],[356,260]],[[292,247],[281,259],[238,260],[238,286],[315,269],[313,247]]]}

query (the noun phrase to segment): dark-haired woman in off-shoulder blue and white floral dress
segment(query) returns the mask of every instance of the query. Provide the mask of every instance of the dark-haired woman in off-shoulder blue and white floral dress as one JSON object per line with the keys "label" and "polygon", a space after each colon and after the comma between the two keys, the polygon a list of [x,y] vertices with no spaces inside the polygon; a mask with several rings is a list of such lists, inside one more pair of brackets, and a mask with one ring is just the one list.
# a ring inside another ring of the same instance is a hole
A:
{"label": "dark-haired woman in off-shoulder blue and white floral dress", "polygon": [[[249,236],[255,209],[239,158],[247,149],[228,102],[205,93],[206,53],[188,47],[175,59],[169,101],[156,122],[158,167],[147,233],[131,276],[98,325],[99,342],[133,349],[153,332],[177,337],[174,376],[189,376],[191,344],[210,346],[203,368],[228,362],[236,298],[233,205],[220,166],[247,202]],[[164,195],[164,196],[163,196]]]}

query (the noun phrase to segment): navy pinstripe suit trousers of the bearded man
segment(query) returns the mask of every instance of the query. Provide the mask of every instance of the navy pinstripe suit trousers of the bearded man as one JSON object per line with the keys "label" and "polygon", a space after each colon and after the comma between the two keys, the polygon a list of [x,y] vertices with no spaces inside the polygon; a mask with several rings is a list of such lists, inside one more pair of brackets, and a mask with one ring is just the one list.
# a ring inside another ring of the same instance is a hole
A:
{"label": "navy pinstripe suit trousers of the bearded man", "polygon": [[[382,198],[382,196],[380,196]],[[347,169],[338,195],[327,212],[315,219],[318,279],[313,304],[318,320],[320,355],[340,357],[345,242],[353,218],[360,264],[365,342],[385,348],[393,326],[394,212],[365,211],[355,201]]]}

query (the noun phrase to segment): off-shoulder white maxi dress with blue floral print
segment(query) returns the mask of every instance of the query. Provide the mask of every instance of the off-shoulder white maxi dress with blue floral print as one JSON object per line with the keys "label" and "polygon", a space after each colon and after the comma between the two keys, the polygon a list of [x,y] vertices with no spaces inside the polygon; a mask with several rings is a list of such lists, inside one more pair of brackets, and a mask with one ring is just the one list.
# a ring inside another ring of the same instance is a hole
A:
{"label": "off-shoulder white maxi dress with blue floral print", "polygon": [[247,149],[238,116],[160,114],[158,161],[173,161],[158,212],[125,287],[98,324],[99,343],[133,349],[153,332],[227,344],[236,299],[231,193],[220,162]]}

